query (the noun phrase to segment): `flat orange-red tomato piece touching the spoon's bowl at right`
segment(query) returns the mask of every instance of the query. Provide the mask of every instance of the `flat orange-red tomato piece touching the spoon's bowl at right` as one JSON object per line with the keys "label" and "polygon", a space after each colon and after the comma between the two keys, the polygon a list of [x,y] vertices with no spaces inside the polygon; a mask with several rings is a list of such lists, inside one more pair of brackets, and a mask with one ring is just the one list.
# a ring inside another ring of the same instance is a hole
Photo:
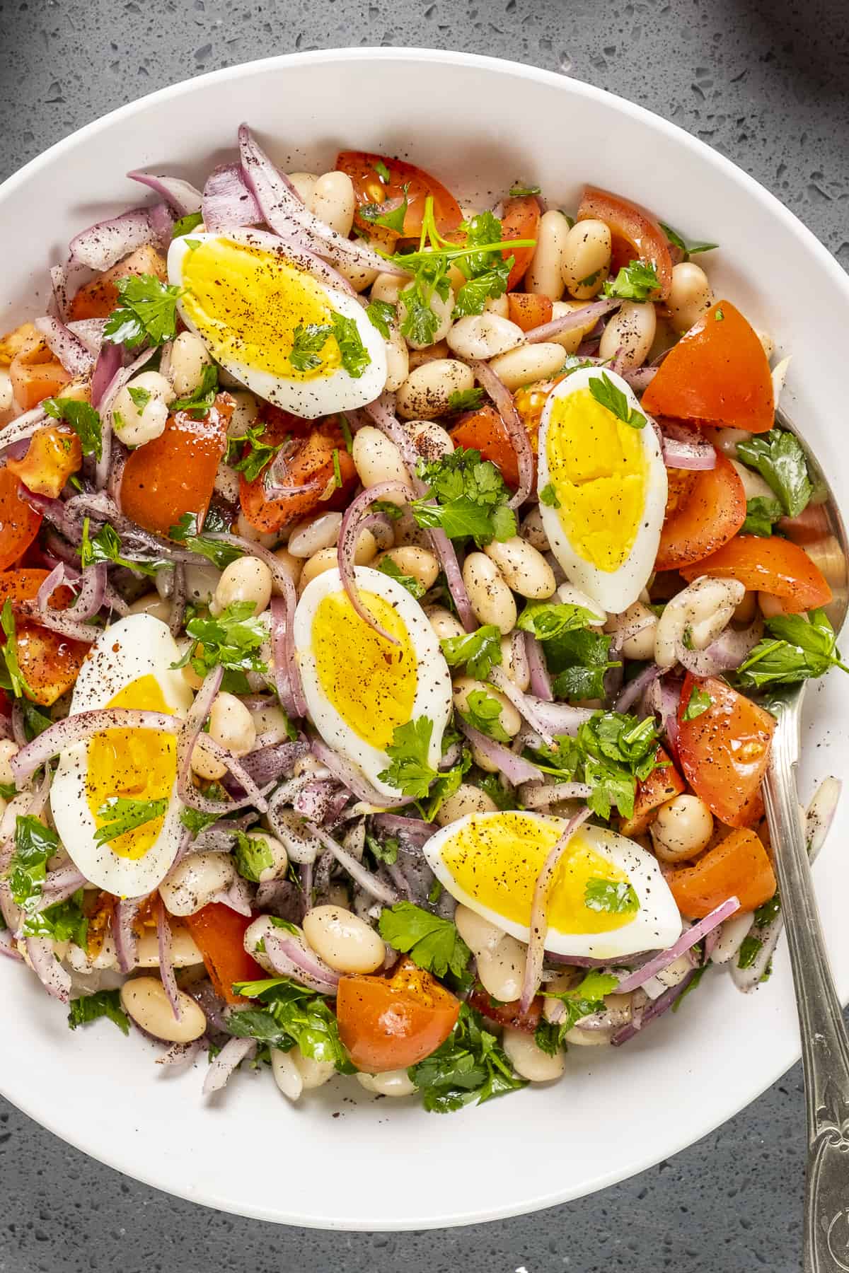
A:
{"label": "flat orange-red tomato piece touching the spoon's bowl at right", "polygon": [[719,551],[681,570],[685,579],[710,574],[717,579],[738,579],[751,592],[771,592],[780,597],[788,615],[827,606],[831,588],[803,547],[770,535],[738,535]]}

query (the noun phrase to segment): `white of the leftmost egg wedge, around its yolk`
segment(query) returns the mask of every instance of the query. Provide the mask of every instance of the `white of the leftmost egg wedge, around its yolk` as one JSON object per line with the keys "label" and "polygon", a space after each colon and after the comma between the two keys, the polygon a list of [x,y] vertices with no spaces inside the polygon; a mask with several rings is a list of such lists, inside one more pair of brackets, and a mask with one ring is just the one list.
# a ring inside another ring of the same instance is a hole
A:
{"label": "white of the leftmost egg wedge, around its yolk", "polygon": [[[179,671],[172,670],[179,651],[168,625],[153,615],[129,615],[107,628],[92,645],[74,686],[69,715],[104,708],[116,694],[141,676],[154,676],[168,710],[185,717],[192,691]],[[171,792],[159,835],[144,857],[118,857],[111,845],[97,844],[97,822],[85,797],[88,742],[61,752],[50,792],[56,830],[79,871],[99,889],[118,897],[151,892],[168,873],[183,827],[177,782]]]}

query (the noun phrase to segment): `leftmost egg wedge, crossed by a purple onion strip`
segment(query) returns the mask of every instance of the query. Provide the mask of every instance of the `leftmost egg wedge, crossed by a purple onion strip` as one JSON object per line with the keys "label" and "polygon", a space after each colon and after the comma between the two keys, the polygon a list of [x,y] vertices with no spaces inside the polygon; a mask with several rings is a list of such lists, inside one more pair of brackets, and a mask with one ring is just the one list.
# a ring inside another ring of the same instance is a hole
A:
{"label": "leftmost egg wedge, crossed by a purple onion strip", "polygon": [[[74,686],[69,715],[103,708],[137,708],[183,717],[192,691],[171,665],[179,651],[168,625],[129,615],[92,645]],[[162,816],[98,844],[108,821],[99,812],[115,797],[167,799]],[[157,729],[104,729],[62,751],[50,793],[62,844],[87,880],[118,897],[151,892],[167,875],[182,839],[174,735]]]}

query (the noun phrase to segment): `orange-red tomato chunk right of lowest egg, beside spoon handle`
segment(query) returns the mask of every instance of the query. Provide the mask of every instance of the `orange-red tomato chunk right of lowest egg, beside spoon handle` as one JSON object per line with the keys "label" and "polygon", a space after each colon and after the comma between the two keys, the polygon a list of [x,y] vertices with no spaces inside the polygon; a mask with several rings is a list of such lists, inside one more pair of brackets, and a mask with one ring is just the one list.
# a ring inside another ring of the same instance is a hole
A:
{"label": "orange-red tomato chunk right of lowest egg, beside spoon handle", "polygon": [[746,826],[737,827],[692,866],[675,867],[664,877],[685,919],[704,919],[728,897],[737,897],[741,910],[755,910],[776,889],[766,849]]}

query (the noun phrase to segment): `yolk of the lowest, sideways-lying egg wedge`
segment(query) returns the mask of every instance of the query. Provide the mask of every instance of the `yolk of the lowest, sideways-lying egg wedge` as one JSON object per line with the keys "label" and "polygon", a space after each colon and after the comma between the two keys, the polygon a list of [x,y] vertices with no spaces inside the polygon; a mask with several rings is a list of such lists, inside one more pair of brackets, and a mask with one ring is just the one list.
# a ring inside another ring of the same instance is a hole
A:
{"label": "yolk of the lowest, sideways-lying egg wedge", "polygon": [[[446,840],[442,861],[470,897],[527,928],[537,877],[561,833],[561,826],[522,813],[472,819]],[[589,880],[624,883],[628,876],[578,831],[551,881],[546,906],[550,928],[560,933],[606,933],[633,920],[633,914],[591,910],[584,904]]]}

